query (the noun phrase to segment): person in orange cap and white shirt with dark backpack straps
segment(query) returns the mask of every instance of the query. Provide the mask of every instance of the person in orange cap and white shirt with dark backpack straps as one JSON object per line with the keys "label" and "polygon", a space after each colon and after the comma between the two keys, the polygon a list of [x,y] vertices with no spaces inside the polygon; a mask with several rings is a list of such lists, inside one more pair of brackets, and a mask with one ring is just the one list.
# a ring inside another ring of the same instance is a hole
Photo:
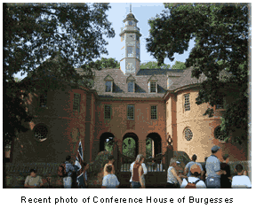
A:
{"label": "person in orange cap and white shirt with dark backpack straps", "polygon": [[200,179],[201,175],[201,166],[198,166],[196,163],[190,167],[190,176],[188,178],[184,178],[180,188],[184,189],[188,185],[188,183],[196,184],[196,189],[205,189],[206,185],[203,180]]}

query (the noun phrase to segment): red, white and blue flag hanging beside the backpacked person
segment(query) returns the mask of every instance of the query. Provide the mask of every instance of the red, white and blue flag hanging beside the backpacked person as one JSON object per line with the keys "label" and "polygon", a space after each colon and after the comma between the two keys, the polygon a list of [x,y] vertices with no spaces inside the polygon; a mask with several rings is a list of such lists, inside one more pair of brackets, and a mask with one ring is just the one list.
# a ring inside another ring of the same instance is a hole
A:
{"label": "red, white and blue flag hanging beside the backpacked person", "polygon": [[81,140],[78,144],[78,149],[76,151],[76,163],[75,163],[75,166],[76,166],[76,182],[77,182],[77,185],[78,187],[85,187],[85,184],[84,184],[84,171],[83,171],[83,163],[84,163],[84,153],[83,153],[83,146],[82,146],[82,143],[81,143]]}

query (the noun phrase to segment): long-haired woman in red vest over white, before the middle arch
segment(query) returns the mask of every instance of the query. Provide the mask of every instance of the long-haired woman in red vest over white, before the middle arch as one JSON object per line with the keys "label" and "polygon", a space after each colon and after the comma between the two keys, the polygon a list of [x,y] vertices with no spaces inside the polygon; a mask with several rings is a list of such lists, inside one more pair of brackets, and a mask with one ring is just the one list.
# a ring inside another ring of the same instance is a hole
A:
{"label": "long-haired woman in red vest over white, before the middle arch", "polygon": [[139,154],[136,160],[131,164],[130,171],[132,172],[131,187],[132,189],[145,189],[144,173],[147,173],[147,167],[145,166],[144,156]]}

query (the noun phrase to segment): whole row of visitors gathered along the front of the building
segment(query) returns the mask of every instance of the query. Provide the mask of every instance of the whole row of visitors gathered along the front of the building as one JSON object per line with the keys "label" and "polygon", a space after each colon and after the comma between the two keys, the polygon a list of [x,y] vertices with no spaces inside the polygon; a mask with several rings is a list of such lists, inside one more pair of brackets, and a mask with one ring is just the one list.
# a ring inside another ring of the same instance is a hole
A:
{"label": "whole row of visitors gathered along the front of the building", "polygon": [[[83,163],[80,168],[74,166],[70,162],[71,157],[66,157],[63,168],[60,168],[59,175],[63,176],[63,186],[66,189],[71,188],[87,188],[87,169],[88,165]],[[144,156],[139,154],[130,166],[132,173],[130,182],[132,189],[145,189],[145,175],[148,173],[147,166],[144,163]],[[228,165],[228,154],[222,155],[219,146],[212,147],[212,155],[204,159],[204,165],[196,162],[196,154],[192,156],[192,160],[185,166],[184,171],[180,171],[180,161],[177,158],[171,158],[170,166],[167,170],[167,181],[165,188],[167,189],[228,189],[228,188],[252,188],[250,178],[241,164],[236,165],[236,175],[231,176],[230,166]],[[220,163],[221,160],[221,163]],[[116,189],[120,185],[116,175],[114,166],[114,157],[110,155],[108,162],[103,168],[103,189]],[[80,180],[77,180],[78,169],[80,172]],[[82,179],[82,180],[81,180]],[[43,185],[42,178],[36,175],[36,170],[31,169],[30,175],[26,178],[24,187],[40,188]]]}

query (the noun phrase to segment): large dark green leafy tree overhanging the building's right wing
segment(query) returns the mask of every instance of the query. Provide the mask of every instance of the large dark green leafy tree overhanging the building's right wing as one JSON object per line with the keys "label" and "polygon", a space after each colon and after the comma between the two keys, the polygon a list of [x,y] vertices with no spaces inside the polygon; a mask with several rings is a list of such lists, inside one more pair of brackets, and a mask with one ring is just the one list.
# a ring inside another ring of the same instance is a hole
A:
{"label": "large dark green leafy tree overhanging the building's right wing", "polygon": [[[174,53],[188,50],[188,42],[195,39],[185,65],[193,66],[192,76],[204,73],[196,104],[218,104],[221,97],[236,91],[234,100],[226,104],[221,129],[225,138],[243,141],[248,134],[248,42],[251,40],[250,4],[164,4],[166,10],[150,19],[147,50],[157,59],[174,60]],[[249,51],[251,49],[249,48]],[[221,73],[228,74],[220,78]],[[231,87],[231,89],[230,89]],[[204,113],[210,117],[212,108]]]}

